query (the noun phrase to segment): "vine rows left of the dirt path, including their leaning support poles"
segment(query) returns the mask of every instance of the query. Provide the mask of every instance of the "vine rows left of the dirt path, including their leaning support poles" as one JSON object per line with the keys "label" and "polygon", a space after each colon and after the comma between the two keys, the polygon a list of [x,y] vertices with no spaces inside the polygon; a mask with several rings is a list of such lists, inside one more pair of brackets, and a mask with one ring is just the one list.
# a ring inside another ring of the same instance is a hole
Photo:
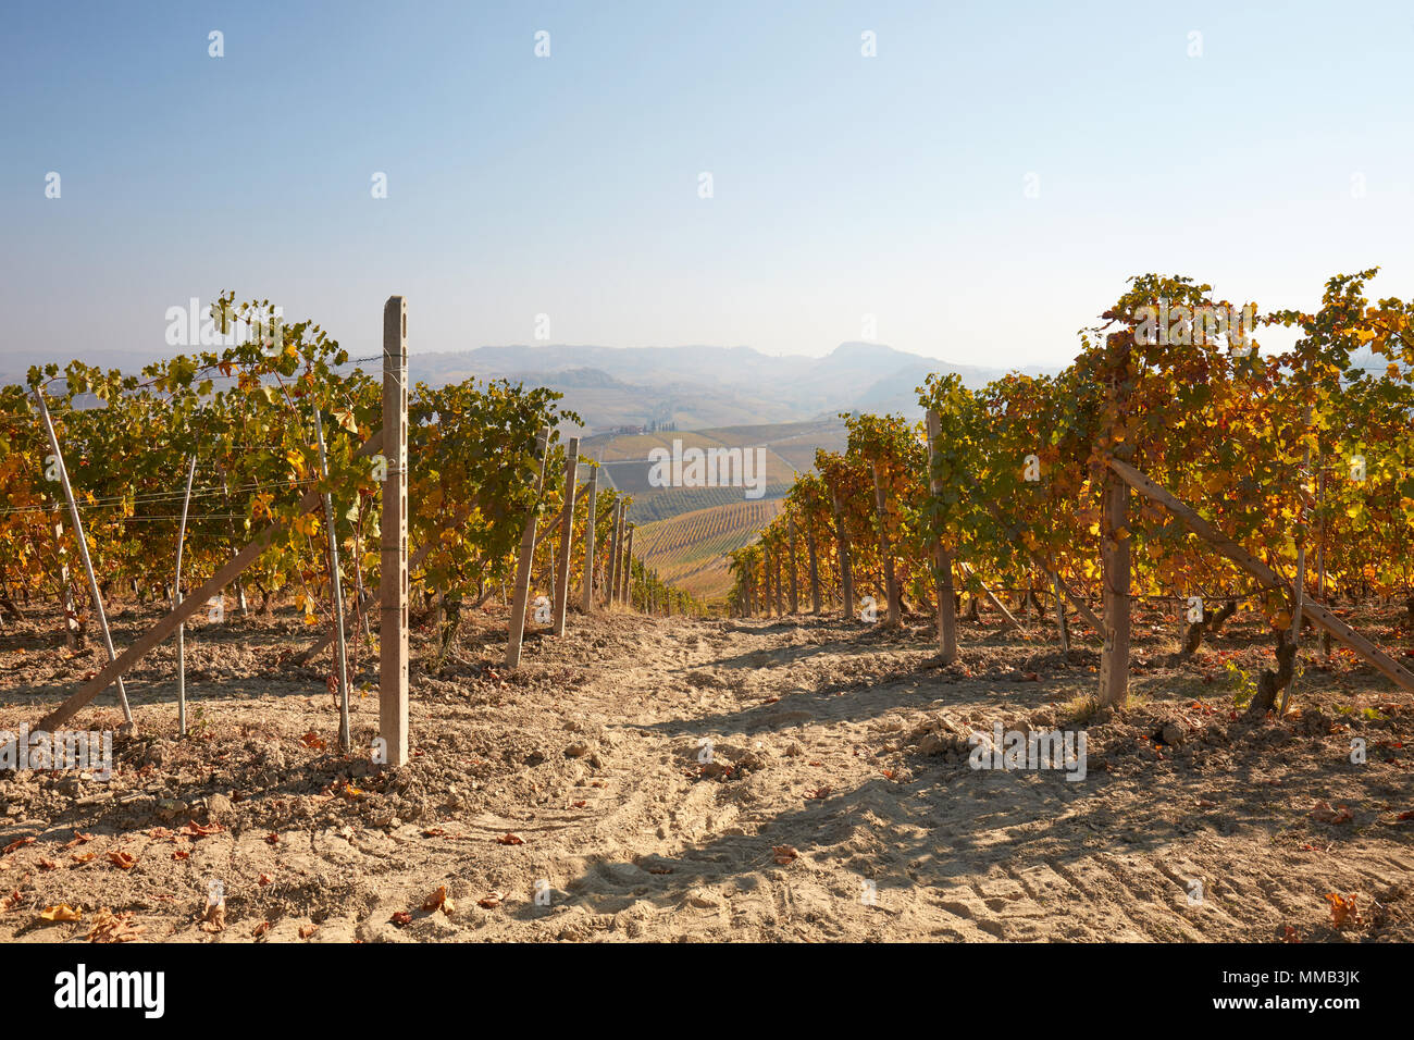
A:
{"label": "vine rows left of the dirt path, including their leaning support poles", "polygon": [[[369,654],[375,589],[395,613],[382,638],[400,630],[406,641],[411,611],[436,628],[440,655],[454,649],[464,611],[499,596],[512,608],[510,666],[525,625],[563,631],[571,584],[581,611],[594,608],[595,586],[602,604],[693,608],[633,556],[632,499],[600,492],[592,463],[581,487],[578,441],[556,433],[575,419],[559,395],[474,379],[409,392],[406,316],[402,331],[385,328],[382,385],[349,368],[318,325],[286,324],[269,301],[222,296],[202,341],[222,338],[222,351],[140,376],[74,361],[0,388],[0,611],[11,623],[57,617],[69,649],[102,638],[110,662],[45,723],[109,683],[132,723],[122,671],[174,628],[181,647],[198,608],[222,623],[228,608],[267,616],[291,599],[310,630],[301,661],[334,648],[344,750],[348,668]],[[402,362],[389,368],[393,341]],[[383,427],[400,427],[399,453]],[[396,514],[383,508],[390,488]],[[542,515],[550,522],[537,531]],[[400,600],[389,599],[399,584],[389,570],[410,572]],[[209,594],[182,607],[192,590]],[[171,606],[124,659],[105,611],[117,594]],[[382,681],[386,693],[386,669]],[[177,682],[181,692],[180,666]]]}

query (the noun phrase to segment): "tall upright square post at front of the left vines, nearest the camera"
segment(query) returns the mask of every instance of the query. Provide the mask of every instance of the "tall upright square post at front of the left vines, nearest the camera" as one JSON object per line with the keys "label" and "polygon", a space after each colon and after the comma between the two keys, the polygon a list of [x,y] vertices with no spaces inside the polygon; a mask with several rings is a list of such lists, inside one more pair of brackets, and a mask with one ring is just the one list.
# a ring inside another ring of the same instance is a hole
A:
{"label": "tall upright square post at front of the left vines, nearest the camera", "polygon": [[[383,306],[383,519],[379,532],[378,727],[387,764],[407,763],[407,300]],[[342,625],[339,625],[342,632]]]}

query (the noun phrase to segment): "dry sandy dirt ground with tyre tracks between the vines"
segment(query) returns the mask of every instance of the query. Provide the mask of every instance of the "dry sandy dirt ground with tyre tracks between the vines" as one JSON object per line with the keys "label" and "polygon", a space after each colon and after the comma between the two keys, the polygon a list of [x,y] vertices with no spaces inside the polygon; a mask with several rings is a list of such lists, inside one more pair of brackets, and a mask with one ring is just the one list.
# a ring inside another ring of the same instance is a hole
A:
{"label": "dry sandy dirt ground with tyre tracks between the vines", "polygon": [[[416,676],[421,753],[376,775],[332,751],[321,674],[280,664],[288,627],[246,624],[191,640],[197,740],[171,739],[158,658],[110,781],[0,781],[0,846],[35,839],[0,856],[0,940],[82,938],[100,907],[144,940],[205,938],[212,880],[219,941],[264,921],[263,941],[1414,940],[1414,705],[1340,659],[1308,672],[1301,717],[1251,726],[1213,654],[1161,668],[1152,634],[1137,706],[1089,722],[1068,780],[974,770],[967,734],[1076,729],[1093,641],[1065,659],[1039,628],[969,625],[940,669],[922,627],[581,618],[503,676],[488,620]],[[89,657],[16,659],[11,730]],[[355,707],[368,743],[376,700]],[[440,886],[451,914],[421,908]],[[1339,930],[1332,893],[1356,900]],[[58,903],[83,920],[38,918]]]}

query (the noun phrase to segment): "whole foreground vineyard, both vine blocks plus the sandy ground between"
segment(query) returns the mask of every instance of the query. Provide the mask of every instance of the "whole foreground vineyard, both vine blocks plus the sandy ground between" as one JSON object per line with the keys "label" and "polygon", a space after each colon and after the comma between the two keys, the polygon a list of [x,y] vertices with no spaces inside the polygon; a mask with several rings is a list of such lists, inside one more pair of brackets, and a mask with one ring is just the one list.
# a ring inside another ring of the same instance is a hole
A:
{"label": "whole foreground vineyard, both vine blocks plus the sandy ground between", "polygon": [[0,938],[1408,941],[1414,308],[1373,277],[1263,316],[1280,352],[1134,279],[1058,376],[930,378],[652,524],[560,395],[409,386],[402,297],[380,358],[228,294],[215,349],[35,368],[0,741],[112,744],[0,778]]}

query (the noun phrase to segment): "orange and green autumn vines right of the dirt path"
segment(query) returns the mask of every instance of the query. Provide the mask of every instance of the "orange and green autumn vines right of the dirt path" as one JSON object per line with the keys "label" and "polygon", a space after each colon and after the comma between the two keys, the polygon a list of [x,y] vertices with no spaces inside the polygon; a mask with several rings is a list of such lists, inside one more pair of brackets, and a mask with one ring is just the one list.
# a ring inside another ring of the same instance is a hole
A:
{"label": "orange and green autumn vines right of the dirt path", "polygon": [[[1015,628],[1035,611],[1068,651],[1072,627],[1100,638],[1099,709],[1126,705],[1135,604],[1184,618],[1176,659],[1250,611],[1271,645],[1239,689],[1250,717],[1288,710],[1308,628],[1326,658],[1339,641],[1414,691],[1414,307],[1367,300],[1374,275],[1261,316],[1299,333],[1266,354],[1209,286],[1137,277],[1055,378],[929,378],[916,426],[844,416],[847,449],[817,453],[734,553],[734,611],[923,611],[946,664],[964,596],[969,617],[986,604]],[[1333,601],[1394,608],[1403,644],[1376,645]]]}

